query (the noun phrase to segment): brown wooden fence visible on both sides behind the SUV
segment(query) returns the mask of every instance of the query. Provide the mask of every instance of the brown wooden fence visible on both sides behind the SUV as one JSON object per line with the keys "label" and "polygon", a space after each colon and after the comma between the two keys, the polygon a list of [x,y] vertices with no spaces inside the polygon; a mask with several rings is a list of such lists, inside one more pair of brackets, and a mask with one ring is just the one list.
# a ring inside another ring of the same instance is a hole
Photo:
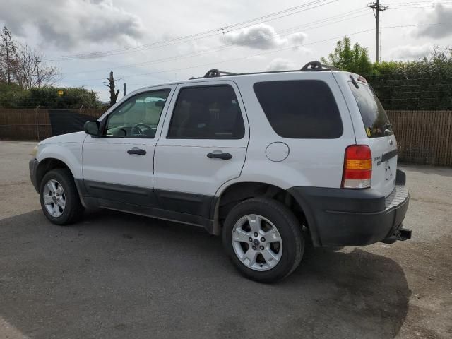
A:
{"label": "brown wooden fence visible on both sides behind the SUV", "polygon": [[[103,109],[73,109],[100,117]],[[452,111],[387,111],[397,137],[399,160],[452,166]],[[0,139],[42,140],[52,136],[47,109],[0,109]]]}

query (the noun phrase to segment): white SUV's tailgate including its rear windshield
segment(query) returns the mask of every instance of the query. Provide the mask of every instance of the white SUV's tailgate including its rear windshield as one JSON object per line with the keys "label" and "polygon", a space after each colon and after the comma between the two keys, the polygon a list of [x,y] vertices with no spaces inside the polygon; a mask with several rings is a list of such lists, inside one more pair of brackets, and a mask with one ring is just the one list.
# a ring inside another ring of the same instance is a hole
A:
{"label": "white SUV's tailgate including its rear windshield", "polygon": [[348,81],[348,87],[362,120],[355,126],[357,143],[369,145],[372,153],[371,188],[388,196],[396,186],[396,137],[383,106],[364,78],[355,77],[355,82]]}

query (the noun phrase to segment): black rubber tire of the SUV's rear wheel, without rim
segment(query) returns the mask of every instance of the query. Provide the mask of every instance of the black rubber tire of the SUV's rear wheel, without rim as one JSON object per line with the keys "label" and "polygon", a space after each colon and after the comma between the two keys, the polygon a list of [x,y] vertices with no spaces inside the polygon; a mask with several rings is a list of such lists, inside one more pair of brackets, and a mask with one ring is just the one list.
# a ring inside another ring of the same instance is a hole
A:
{"label": "black rubber tire of the SUV's rear wheel, without rim", "polygon": [[[237,257],[232,244],[232,232],[236,222],[249,214],[257,214],[275,225],[283,242],[280,261],[270,270],[258,271],[247,267]],[[222,230],[222,242],[234,266],[246,278],[261,283],[273,283],[290,275],[298,267],[304,253],[304,235],[299,221],[283,203],[270,198],[251,198],[234,206],[227,215]]]}

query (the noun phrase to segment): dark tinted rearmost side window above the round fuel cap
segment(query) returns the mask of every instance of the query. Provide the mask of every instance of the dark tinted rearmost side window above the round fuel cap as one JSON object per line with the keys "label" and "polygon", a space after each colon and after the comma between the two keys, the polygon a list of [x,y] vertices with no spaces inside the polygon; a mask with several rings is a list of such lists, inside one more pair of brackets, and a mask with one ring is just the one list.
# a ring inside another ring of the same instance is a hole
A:
{"label": "dark tinted rearmost side window above the round fuel cap", "polygon": [[283,138],[334,139],[342,136],[338,105],[319,80],[268,81],[254,92],[270,125]]}

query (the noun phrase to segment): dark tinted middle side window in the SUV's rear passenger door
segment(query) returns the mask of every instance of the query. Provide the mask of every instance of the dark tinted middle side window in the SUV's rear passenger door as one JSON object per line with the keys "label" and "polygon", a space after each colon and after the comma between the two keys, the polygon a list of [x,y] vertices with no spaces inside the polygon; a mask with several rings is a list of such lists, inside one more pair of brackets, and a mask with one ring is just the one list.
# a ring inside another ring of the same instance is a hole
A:
{"label": "dark tinted middle side window in the SUV's rear passenger door", "polygon": [[167,138],[241,139],[245,127],[230,85],[182,88]]}

